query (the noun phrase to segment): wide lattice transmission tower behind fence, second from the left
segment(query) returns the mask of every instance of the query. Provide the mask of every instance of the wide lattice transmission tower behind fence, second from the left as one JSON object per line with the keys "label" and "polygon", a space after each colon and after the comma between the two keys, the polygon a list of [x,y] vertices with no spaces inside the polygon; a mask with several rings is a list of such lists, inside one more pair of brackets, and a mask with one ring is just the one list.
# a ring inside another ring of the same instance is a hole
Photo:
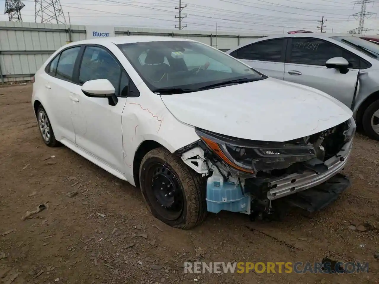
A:
{"label": "wide lattice transmission tower behind fence, second from the left", "polygon": [[60,0],[35,0],[34,21],[66,24]]}

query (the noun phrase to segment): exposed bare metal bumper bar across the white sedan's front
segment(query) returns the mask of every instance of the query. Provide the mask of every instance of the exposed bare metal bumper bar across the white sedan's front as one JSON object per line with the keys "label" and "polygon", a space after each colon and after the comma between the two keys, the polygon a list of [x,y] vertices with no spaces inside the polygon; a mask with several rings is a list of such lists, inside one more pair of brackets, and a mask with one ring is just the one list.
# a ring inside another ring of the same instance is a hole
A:
{"label": "exposed bare metal bumper bar across the white sedan's front", "polygon": [[341,172],[348,162],[352,150],[352,141],[353,139],[347,142],[336,156],[333,156],[324,163],[328,168],[326,172],[318,174],[312,170],[307,170],[302,174],[294,173],[285,178],[271,181],[271,186],[276,185],[276,187],[267,192],[267,198],[269,200],[275,200],[293,193],[301,192],[311,187],[318,186]]}

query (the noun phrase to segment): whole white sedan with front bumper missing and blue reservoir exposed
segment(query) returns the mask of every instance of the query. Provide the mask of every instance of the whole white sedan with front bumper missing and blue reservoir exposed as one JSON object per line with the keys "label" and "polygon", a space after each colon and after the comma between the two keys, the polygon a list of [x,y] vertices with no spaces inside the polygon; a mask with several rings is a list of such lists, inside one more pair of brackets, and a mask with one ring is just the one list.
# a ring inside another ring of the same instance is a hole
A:
{"label": "whole white sedan with front bumper missing and blue reservoir exposed", "polygon": [[200,42],[125,36],[74,42],[35,74],[46,145],[133,186],[152,214],[189,229],[208,211],[309,211],[346,189],[356,124],[329,95],[268,78]]}

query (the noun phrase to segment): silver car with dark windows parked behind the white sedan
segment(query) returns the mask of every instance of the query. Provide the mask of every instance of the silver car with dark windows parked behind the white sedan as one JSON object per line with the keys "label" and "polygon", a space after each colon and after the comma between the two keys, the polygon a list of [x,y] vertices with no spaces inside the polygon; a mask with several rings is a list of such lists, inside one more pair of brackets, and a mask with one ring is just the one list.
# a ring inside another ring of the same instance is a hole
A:
{"label": "silver car with dark windows parked behind the white sedan", "polygon": [[267,76],[332,95],[352,109],[358,128],[379,140],[379,45],[302,33],[262,37],[226,53]]}

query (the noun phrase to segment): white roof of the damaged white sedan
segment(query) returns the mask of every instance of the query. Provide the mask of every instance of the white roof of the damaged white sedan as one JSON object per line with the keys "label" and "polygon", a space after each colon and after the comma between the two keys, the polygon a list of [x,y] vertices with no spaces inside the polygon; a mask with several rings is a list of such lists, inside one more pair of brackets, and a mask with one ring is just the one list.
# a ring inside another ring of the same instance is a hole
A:
{"label": "white roof of the damaged white sedan", "polygon": [[113,36],[113,37],[100,37],[97,39],[85,39],[82,41],[75,41],[72,44],[130,44],[135,42],[154,42],[154,41],[193,41],[191,39],[175,38],[168,36]]}

